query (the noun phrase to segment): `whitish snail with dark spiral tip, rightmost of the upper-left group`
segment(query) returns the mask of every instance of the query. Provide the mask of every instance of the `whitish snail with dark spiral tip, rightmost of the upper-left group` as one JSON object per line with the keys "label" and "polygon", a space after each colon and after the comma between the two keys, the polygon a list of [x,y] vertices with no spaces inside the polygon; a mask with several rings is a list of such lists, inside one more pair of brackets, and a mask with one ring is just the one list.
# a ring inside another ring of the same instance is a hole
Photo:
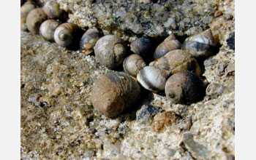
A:
{"label": "whitish snail with dark spiral tip, rightmost of the upper-left group", "polygon": [[62,47],[68,47],[75,39],[75,33],[78,30],[78,25],[72,23],[63,23],[56,28],[54,32],[54,40],[56,44]]}

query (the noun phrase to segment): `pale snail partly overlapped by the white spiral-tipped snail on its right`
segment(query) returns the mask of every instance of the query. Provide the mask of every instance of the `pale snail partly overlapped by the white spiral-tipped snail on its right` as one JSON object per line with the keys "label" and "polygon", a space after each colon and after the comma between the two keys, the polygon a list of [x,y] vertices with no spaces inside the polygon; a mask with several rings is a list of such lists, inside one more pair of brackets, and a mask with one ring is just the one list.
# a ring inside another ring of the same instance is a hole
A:
{"label": "pale snail partly overlapped by the white spiral-tipped snail on its right", "polygon": [[59,25],[60,23],[56,20],[45,20],[45,22],[40,25],[39,34],[46,41],[54,41],[54,31]]}

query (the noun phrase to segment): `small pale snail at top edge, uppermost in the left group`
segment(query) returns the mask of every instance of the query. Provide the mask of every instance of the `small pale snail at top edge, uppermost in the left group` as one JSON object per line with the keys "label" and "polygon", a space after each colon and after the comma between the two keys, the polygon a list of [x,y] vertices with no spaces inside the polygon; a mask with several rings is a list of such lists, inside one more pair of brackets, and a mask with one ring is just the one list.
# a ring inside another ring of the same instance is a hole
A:
{"label": "small pale snail at top edge, uppermost in the left group", "polygon": [[59,18],[63,12],[56,1],[47,1],[42,9],[49,18]]}

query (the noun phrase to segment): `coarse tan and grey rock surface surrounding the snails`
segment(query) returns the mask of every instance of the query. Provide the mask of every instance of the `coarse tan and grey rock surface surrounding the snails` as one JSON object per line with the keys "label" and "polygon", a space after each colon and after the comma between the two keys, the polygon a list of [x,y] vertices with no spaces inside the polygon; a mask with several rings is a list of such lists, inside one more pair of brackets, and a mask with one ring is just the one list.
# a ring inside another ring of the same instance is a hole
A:
{"label": "coarse tan and grey rock surface surrounding the snails", "polygon": [[172,104],[142,90],[138,104],[108,118],[89,97],[94,81],[110,70],[94,55],[21,31],[21,159],[235,159],[234,1],[57,2],[68,22],[126,41],[163,40],[169,31],[184,40],[211,28],[219,48],[197,60],[208,81],[200,102]]}

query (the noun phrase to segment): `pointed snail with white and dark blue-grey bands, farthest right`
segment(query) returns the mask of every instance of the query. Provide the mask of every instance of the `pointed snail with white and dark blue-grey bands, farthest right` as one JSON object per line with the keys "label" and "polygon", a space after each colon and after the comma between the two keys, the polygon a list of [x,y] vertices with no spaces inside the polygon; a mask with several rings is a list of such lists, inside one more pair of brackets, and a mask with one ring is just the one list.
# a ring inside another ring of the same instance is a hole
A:
{"label": "pointed snail with white and dark blue-grey bands, farthest right", "polygon": [[206,57],[211,55],[216,42],[211,33],[211,29],[203,31],[193,36],[189,36],[182,44],[182,49],[188,50],[195,57]]}

